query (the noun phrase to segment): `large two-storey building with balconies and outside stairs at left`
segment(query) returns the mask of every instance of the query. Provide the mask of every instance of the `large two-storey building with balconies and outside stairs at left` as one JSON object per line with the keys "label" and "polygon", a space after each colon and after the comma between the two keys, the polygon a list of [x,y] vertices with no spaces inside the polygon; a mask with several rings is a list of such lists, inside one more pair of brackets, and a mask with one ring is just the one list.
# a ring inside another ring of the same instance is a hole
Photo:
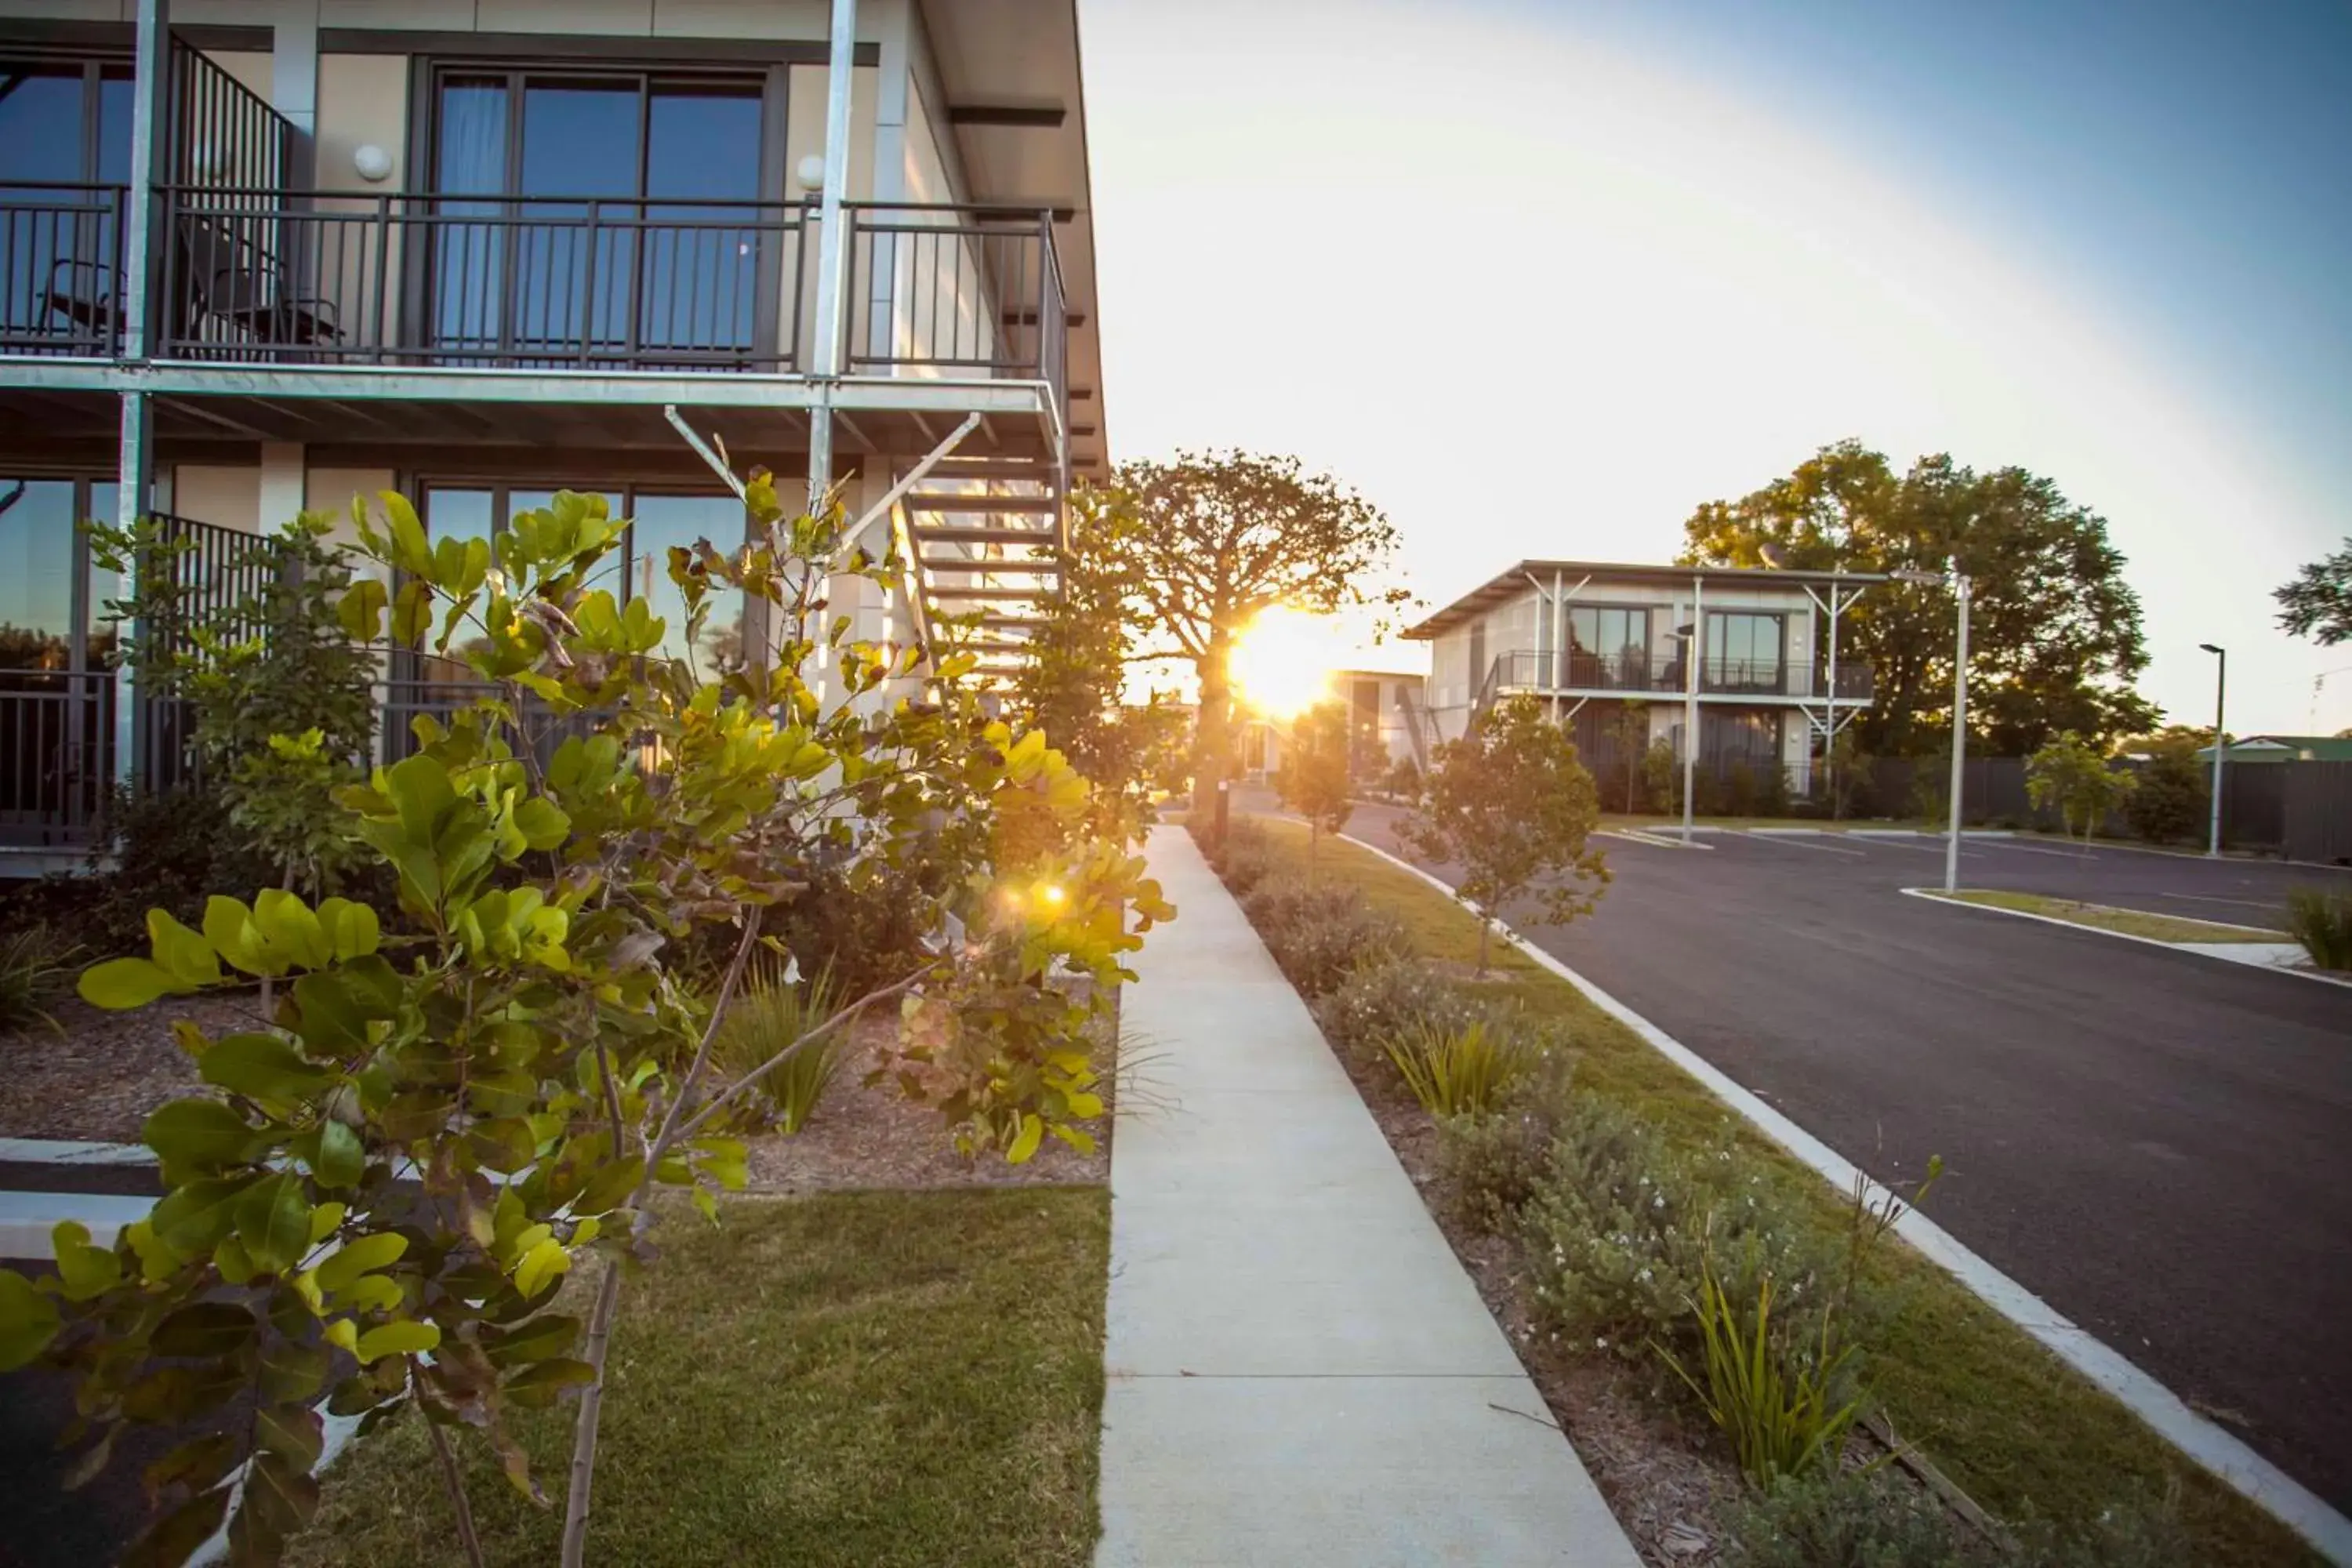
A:
{"label": "large two-storey building with balconies and outside stairs at left", "polygon": [[[600,491],[663,614],[670,545],[743,541],[724,451],[901,545],[858,635],[1002,675],[1108,465],[1096,343],[1075,0],[0,0],[0,849],[174,766],[85,517],[226,595],[355,494]],[[388,661],[386,755],[459,684]]]}

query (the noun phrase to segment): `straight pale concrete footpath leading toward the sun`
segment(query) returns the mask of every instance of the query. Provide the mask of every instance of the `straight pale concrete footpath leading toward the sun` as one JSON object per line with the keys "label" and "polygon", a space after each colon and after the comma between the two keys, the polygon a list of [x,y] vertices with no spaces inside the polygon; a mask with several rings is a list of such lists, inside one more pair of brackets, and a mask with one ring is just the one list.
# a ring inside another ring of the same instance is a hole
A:
{"label": "straight pale concrete footpath leading toward the sun", "polygon": [[1240,907],[1181,830],[1150,865],[1094,1561],[1639,1568]]}

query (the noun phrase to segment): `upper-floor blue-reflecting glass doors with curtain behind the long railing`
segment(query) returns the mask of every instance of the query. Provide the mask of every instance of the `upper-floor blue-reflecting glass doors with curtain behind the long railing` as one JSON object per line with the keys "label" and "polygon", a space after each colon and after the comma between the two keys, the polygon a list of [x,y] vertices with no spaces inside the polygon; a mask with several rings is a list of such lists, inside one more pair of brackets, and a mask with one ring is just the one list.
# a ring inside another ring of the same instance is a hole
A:
{"label": "upper-floor blue-reflecting glass doors with curtain behind the long railing", "polygon": [[569,364],[748,360],[776,275],[746,207],[760,200],[762,92],[762,78],[442,71],[433,186],[459,200],[435,207],[435,346]]}

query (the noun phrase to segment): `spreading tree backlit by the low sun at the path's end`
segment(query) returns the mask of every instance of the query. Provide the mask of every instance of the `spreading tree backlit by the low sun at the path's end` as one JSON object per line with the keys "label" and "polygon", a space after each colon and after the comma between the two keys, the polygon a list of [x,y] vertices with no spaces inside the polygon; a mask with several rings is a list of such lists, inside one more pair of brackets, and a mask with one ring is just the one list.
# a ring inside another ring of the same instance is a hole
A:
{"label": "spreading tree backlit by the low sun at the path's end", "polygon": [[1134,609],[1157,637],[1131,658],[1183,658],[1200,677],[1192,788],[1230,778],[1232,644],[1275,604],[1331,614],[1402,604],[1374,588],[1397,548],[1381,508],[1298,458],[1178,451],[1174,463],[1122,463],[1112,489],[1136,527],[1110,541]]}

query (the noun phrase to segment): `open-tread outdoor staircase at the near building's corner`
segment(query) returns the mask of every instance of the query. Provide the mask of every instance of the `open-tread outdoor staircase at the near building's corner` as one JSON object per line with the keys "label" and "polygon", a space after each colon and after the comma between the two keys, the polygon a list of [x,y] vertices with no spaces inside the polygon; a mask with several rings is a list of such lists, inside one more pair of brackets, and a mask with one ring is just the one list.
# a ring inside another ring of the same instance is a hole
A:
{"label": "open-tread outdoor staircase at the near building's corner", "polygon": [[1068,524],[1056,470],[948,458],[901,505],[927,635],[943,651],[976,654],[974,677],[1002,684],[1028,658],[1042,607],[1061,595]]}

